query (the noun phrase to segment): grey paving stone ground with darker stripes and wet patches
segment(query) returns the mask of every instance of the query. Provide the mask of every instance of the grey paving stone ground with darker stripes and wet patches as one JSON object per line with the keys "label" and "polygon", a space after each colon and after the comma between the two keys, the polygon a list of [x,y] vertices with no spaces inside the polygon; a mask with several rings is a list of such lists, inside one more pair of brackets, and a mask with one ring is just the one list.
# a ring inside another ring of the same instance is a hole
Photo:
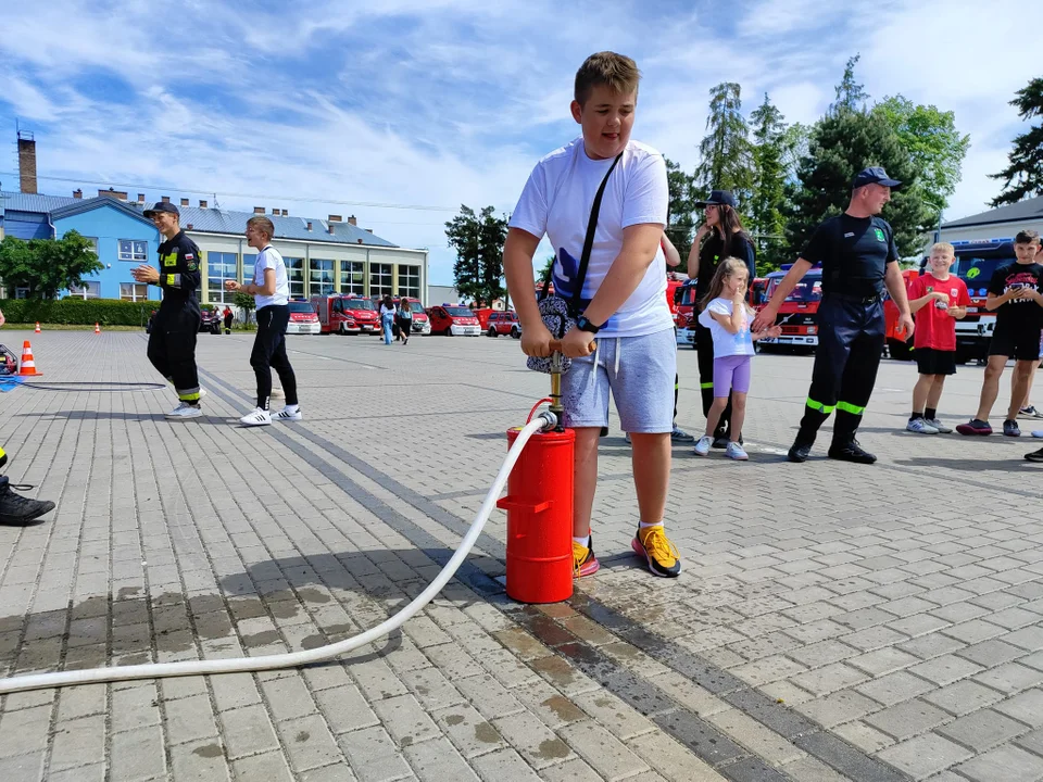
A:
{"label": "grey paving stone ground with darker stripes and wet patches", "polygon": [[[8,474],[58,502],[0,528],[2,676],[313,648],[378,623],[449,559],[504,430],[546,390],[513,340],[291,337],[305,420],[242,429],[251,339],[204,335],[206,416],[171,422],[143,335],[2,338],[33,339],[45,373],[0,394]],[[679,367],[696,431],[693,351]],[[915,368],[884,362],[860,438],[880,463],[822,446],[790,465],[809,373],[755,360],[749,463],[675,450],[681,578],[629,553],[613,416],[603,568],[569,602],[506,598],[498,513],[430,606],[345,658],[3,696],[0,780],[1043,779],[1033,441],[901,431]],[[969,417],[980,378],[960,368],[943,418]]]}

